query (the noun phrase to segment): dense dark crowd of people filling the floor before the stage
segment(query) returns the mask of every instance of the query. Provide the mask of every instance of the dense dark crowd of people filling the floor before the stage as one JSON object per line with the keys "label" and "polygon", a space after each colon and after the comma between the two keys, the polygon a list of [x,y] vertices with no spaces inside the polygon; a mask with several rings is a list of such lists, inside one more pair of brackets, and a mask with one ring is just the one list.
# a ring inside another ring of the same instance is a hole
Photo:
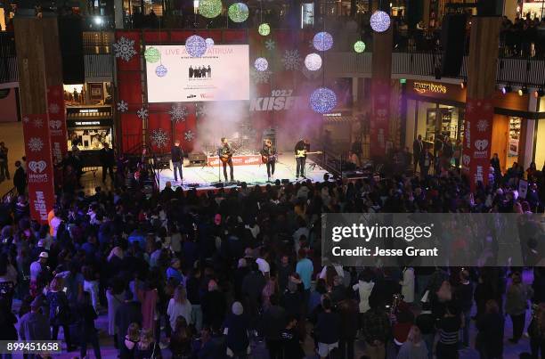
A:
{"label": "dense dark crowd of people filling the floor before the stage", "polygon": [[543,171],[526,199],[505,176],[470,193],[455,169],[207,192],[149,192],[146,167],[119,171],[131,181],[111,192],[59,192],[47,224],[24,196],[2,204],[0,339],[61,330],[63,350],[86,357],[91,345],[100,358],[106,314],[121,358],[247,358],[260,341],[272,359],[354,358],[359,339],[373,359],[457,358],[474,344],[500,358],[508,314],[510,340],[527,328],[528,357],[545,355],[541,267],[321,266],[322,213],[542,213]]}

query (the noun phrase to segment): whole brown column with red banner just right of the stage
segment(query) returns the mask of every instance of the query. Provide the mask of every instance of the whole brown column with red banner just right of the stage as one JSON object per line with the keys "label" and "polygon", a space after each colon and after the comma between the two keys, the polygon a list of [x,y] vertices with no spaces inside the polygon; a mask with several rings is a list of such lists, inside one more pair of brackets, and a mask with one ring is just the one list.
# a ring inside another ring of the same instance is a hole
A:
{"label": "whole brown column with red banner just right of the stage", "polygon": [[389,140],[390,82],[392,79],[393,29],[373,32],[373,57],[371,73],[370,157],[386,156]]}

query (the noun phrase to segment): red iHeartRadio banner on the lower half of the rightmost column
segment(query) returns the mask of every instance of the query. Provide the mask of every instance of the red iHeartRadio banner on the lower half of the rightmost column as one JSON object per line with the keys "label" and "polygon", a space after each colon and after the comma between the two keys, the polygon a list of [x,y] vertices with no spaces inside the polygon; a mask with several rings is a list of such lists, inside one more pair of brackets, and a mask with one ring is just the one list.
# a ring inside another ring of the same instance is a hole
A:
{"label": "red iHeartRadio banner on the lower half of the rightmost column", "polygon": [[468,175],[471,191],[475,191],[478,182],[483,184],[488,182],[493,116],[492,99],[468,98],[464,122],[462,170]]}

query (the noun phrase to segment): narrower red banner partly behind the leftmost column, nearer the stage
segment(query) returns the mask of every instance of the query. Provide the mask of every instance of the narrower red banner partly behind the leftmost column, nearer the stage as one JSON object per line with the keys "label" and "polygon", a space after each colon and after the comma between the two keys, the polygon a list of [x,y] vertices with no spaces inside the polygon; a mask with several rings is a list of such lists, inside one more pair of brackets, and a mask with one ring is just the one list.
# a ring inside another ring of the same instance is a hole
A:
{"label": "narrower red banner partly behind the leftmost column, nearer the stage", "polygon": [[62,85],[47,87],[47,112],[49,112],[49,135],[53,163],[61,163],[68,152],[66,117]]}

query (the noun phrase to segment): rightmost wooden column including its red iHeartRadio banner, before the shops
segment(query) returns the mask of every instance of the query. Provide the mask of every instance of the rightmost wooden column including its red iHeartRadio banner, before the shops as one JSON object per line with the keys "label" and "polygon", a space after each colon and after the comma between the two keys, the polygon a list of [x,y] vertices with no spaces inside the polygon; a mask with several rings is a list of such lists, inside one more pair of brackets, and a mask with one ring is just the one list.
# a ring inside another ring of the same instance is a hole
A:
{"label": "rightmost wooden column including its red iHeartRadio banner, before the shops", "polygon": [[462,171],[475,191],[478,182],[488,182],[500,17],[473,18],[470,38]]}

